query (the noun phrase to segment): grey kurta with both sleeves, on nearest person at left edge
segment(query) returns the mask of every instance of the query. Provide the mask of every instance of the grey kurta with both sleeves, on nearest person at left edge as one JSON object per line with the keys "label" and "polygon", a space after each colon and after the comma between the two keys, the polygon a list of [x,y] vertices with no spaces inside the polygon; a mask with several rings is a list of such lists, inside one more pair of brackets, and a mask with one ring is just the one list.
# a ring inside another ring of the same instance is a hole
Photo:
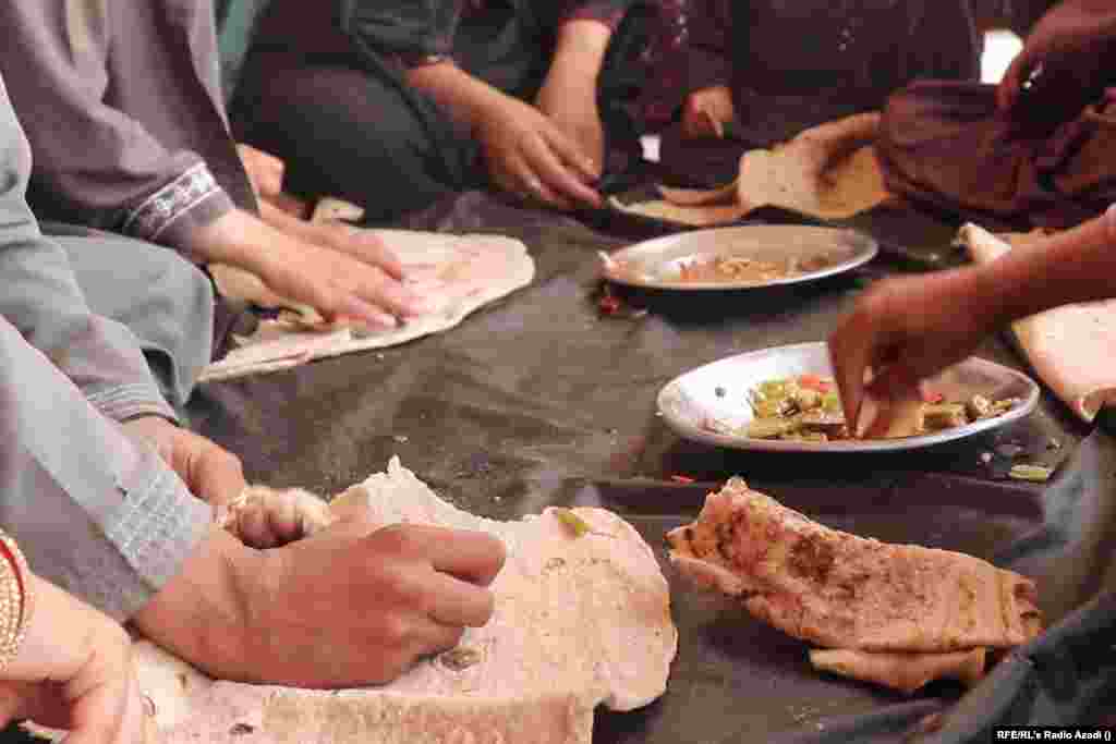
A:
{"label": "grey kurta with both sleeves, on nearest person at left edge", "polygon": [[136,339],[89,311],[39,232],[30,165],[0,83],[0,525],[32,570],[124,619],[177,572],[210,509],[112,421],[173,413]]}

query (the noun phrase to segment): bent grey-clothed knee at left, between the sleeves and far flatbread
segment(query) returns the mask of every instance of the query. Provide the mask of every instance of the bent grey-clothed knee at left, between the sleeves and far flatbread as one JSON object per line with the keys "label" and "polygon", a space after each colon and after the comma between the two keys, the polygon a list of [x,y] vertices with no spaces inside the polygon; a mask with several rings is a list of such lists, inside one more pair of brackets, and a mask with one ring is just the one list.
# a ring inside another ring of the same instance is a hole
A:
{"label": "bent grey-clothed knee at left, between the sleeves and far flatbread", "polygon": [[[54,233],[54,225],[45,229]],[[181,412],[213,344],[213,288],[174,251],[116,235],[54,235],[89,308],[127,326],[167,402]]]}

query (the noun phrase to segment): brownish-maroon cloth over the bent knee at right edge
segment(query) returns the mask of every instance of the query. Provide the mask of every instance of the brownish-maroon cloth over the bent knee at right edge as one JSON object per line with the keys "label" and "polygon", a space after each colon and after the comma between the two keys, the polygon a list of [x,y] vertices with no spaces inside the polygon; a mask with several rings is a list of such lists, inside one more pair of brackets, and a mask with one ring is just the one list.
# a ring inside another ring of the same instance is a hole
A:
{"label": "brownish-maroon cloth over the bent knee at right edge", "polygon": [[1067,228],[1116,201],[1116,89],[1054,126],[1001,116],[995,87],[916,83],[891,98],[878,152],[887,186],[970,220]]}

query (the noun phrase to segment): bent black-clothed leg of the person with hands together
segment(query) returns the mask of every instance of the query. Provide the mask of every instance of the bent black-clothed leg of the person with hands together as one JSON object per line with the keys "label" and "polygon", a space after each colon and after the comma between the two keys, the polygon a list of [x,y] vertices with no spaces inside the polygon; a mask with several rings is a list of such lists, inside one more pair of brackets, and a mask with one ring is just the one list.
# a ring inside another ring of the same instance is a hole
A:
{"label": "bent black-clothed leg of the person with hands together", "polygon": [[402,80],[346,67],[246,73],[232,116],[248,144],[287,164],[285,186],[338,196],[373,220],[473,187],[475,145]]}

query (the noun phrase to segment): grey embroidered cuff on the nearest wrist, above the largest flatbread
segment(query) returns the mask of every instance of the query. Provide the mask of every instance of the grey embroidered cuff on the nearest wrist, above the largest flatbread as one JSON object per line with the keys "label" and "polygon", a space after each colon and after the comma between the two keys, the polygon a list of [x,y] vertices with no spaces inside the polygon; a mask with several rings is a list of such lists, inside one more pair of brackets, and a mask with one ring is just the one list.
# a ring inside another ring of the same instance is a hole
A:
{"label": "grey embroidered cuff on the nearest wrist, above the largest flatbread", "polygon": [[137,467],[118,486],[123,501],[102,522],[132,572],[117,577],[123,586],[100,606],[117,619],[132,617],[174,578],[213,521],[209,504],[191,495],[154,451],[142,450]]}

